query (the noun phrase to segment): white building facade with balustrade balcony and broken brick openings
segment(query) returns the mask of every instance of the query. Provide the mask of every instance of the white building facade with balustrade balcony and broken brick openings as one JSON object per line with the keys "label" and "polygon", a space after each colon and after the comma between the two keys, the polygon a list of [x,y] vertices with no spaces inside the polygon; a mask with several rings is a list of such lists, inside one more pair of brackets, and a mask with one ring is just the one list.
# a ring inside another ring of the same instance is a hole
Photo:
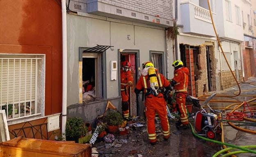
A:
{"label": "white building facade with balustrade balcony and broken brick openings", "polygon": [[205,0],[178,0],[176,19],[181,33],[177,38],[176,48],[179,51],[176,55],[190,69],[189,88],[192,95],[200,96],[229,88],[236,83],[235,79],[242,81],[240,3],[209,0],[209,9]]}

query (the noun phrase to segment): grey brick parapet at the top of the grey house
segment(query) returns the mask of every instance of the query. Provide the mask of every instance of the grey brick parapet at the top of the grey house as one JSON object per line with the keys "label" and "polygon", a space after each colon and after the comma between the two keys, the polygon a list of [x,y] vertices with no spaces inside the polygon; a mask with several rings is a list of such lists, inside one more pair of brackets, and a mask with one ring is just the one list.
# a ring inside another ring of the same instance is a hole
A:
{"label": "grey brick parapet at the top of the grey house", "polygon": [[165,19],[173,19],[173,0],[87,0],[89,2],[99,1],[117,7],[153,15]]}

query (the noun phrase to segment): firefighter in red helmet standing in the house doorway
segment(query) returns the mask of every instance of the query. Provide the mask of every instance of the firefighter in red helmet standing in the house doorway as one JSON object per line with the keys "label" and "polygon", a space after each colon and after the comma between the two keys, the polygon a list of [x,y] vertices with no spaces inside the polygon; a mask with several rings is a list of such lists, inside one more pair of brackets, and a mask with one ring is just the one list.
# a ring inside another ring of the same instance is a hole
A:
{"label": "firefighter in red helmet standing in the house doorway", "polygon": [[124,61],[121,64],[121,96],[123,118],[129,117],[129,87],[133,85],[133,75],[130,71],[130,62]]}

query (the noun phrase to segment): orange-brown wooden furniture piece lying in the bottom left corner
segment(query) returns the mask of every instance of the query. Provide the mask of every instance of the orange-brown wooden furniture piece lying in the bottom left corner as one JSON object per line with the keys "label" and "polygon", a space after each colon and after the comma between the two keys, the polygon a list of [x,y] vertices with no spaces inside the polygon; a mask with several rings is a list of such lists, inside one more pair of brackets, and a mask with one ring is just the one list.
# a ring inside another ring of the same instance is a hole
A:
{"label": "orange-brown wooden furniture piece lying in the bottom left corner", "polygon": [[0,157],[91,157],[91,144],[17,137],[0,142]]}

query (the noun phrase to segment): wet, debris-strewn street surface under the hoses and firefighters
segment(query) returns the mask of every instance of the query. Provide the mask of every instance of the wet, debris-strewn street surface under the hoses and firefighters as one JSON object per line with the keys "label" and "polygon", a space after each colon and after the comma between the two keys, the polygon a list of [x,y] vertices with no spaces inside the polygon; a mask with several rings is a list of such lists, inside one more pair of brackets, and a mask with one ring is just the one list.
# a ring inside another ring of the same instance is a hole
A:
{"label": "wet, debris-strewn street surface under the hoses and firefighters", "polygon": [[[229,89],[226,89],[221,92],[217,92],[217,95],[213,97],[212,100],[218,100],[218,101],[224,101],[224,102],[209,102],[209,105],[214,110],[222,111],[227,106],[234,104],[234,102],[229,101],[241,101],[241,102],[248,102],[247,104],[250,104],[250,100],[256,98],[256,78],[251,77],[247,82],[240,83],[240,89],[241,94],[236,97],[219,97],[218,95],[224,96],[234,96],[235,92],[239,93],[238,86],[233,86]],[[250,90],[254,89],[254,90]],[[238,94],[236,93],[236,94]],[[213,93],[209,93],[211,95]],[[251,95],[251,96],[247,96]],[[200,99],[205,100],[206,97],[201,97]],[[203,101],[200,102],[200,104]],[[252,103],[256,103],[256,101],[252,101]],[[239,103],[241,104],[241,103]],[[250,106],[252,113],[247,114],[256,114],[256,107]],[[234,106],[231,106],[229,108],[234,108]],[[243,111],[243,106],[240,108],[241,110],[239,112]],[[245,105],[246,111],[248,107]],[[200,109],[197,107],[192,108],[192,113],[196,115],[196,113]],[[249,145],[255,145],[256,144],[256,134],[255,133],[248,133],[243,130],[238,130],[236,128],[233,128],[230,126],[227,122],[226,113],[230,113],[231,109],[226,109],[223,112],[223,137],[224,137],[224,143],[231,144],[234,146],[249,146]],[[250,117],[251,119],[256,119],[255,115]],[[160,127],[160,120],[157,118],[155,119],[156,124],[156,130],[157,130],[157,144],[152,146],[149,143],[148,136],[146,133],[146,119],[141,116],[137,119],[137,122],[139,124],[143,124],[142,127],[130,127],[130,131],[127,135],[114,135],[115,140],[113,143],[106,143],[104,139],[101,139],[101,142],[97,141],[95,144],[93,144],[94,148],[97,148],[98,157],[213,157],[214,155],[217,157],[225,155],[225,153],[219,153],[219,155],[216,155],[220,150],[222,150],[222,144],[221,142],[221,135],[222,134],[216,134],[216,137],[214,138],[214,141],[209,141],[206,136],[205,139],[201,139],[200,137],[197,137],[194,135],[194,119],[193,117],[190,117],[190,124],[193,128],[182,130],[181,134],[175,134],[173,132],[177,131],[175,127],[175,122],[177,119],[169,119],[169,125],[170,125],[170,132],[171,136],[168,141],[164,141],[163,137],[161,135],[161,127]],[[243,120],[244,121],[244,120]],[[232,124],[239,126],[240,128],[245,128],[247,130],[256,130],[256,122],[251,121],[245,121],[246,123],[240,123],[240,122],[232,122]],[[195,131],[196,132],[196,131]],[[218,143],[219,142],[219,143]],[[230,148],[230,146],[226,146],[227,148]],[[237,150],[231,150],[231,151],[238,151]],[[256,150],[251,149],[251,150]],[[237,157],[256,157],[255,153],[239,153],[235,154]]]}

